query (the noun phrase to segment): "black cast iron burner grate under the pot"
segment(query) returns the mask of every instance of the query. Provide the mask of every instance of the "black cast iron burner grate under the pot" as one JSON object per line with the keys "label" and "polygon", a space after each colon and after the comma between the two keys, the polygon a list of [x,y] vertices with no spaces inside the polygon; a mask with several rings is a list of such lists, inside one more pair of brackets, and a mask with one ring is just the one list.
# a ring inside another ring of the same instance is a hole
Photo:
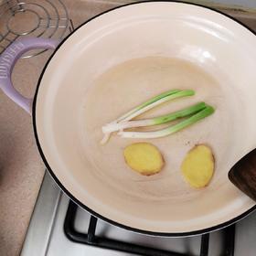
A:
{"label": "black cast iron burner grate under the pot", "polygon": [[[77,214],[78,206],[69,201],[69,208],[64,221],[64,232],[67,238],[74,242],[79,242],[91,246],[96,246],[99,248],[110,249],[114,251],[123,251],[133,254],[139,254],[144,256],[191,256],[188,254],[175,252],[175,251],[163,251],[155,248],[144,247],[138,244],[132,244],[123,242],[120,240],[112,240],[103,238],[95,235],[97,228],[97,218],[91,216],[90,224],[87,234],[80,233],[75,229],[75,219]],[[224,229],[225,237],[225,248],[223,249],[223,256],[233,256],[235,247],[235,224]],[[201,236],[201,248],[200,256],[208,256],[208,244],[209,244],[210,234],[203,234]]]}

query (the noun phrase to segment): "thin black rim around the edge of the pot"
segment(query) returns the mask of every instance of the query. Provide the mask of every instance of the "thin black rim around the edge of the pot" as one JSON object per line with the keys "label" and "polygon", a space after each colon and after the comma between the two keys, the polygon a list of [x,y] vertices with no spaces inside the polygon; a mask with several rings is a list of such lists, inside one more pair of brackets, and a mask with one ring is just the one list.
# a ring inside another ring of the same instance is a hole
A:
{"label": "thin black rim around the edge of the pot", "polygon": [[[251,30],[250,27],[247,27],[245,26],[244,24],[242,24],[240,21],[238,21],[237,19],[235,19],[234,17],[232,16],[229,16],[227,14],[224,14],[222,12],[220,12],[219,10],[215,10],[211,7],[208,7],[208,6],[204,6],[204,5],[198,5],[198,4],[194,4],[194,3],[187,3],[187,2],[183,2],[183,1],[155,1],[155,0],[149,0],[149,1],[141,1],[141,2],[137,2],[137,3],[131,3],[131,4],[127,4],[127,5],[140,5],[140,4],[144,4],[144,3],[149,3],[149,2],[170,2],[170,3],[177,3],[177,4],[186,4],[186,5],[197,5],[197,6],[200,6],[200,7],[204,7],[204,8],[207,8],[211,11],[214,11],[214,12],[217,12],[223,16],[227,16],[229,17],[230,19],[232,19],[233,21],[239,23],[242,27],[245,27],[246,29],[250,30],[251,33],[256,36],[256,33]],[[52,178],[54,179],[54,181],[58,184],[58,186],[60,187],[60,189],[72,200],[74,201],[77,205],[80,206],[80,208],[83,208],[85,210],[87,210],[88,212],[91,213],[91,215],[99,218],[99,219],[102,219],[106,222],[109,222],[110,224],[112,225],[115,225],[117,227],[120,227],[120,228],[123,228],[123,229],[127,229],[127,230],[130,230],[130,231],[134,231],[134,232],[138,232],[138,233],[142,233],[142,234],[146,234],[146,235],[150,235],[150,236],[158,236],[158,237],[187,237],[187,236],[195,236],[195,235],[200,235],[200,234],[204,234],[204,233],[208,233],[208,232],[211,232],[211,231],[214,231],[214,230],[217,230],[217,229],[223,229],[225,227],[228,227],[229,225],[232,225],[234,224],[235,222],[239,221],[240,219],[243,219],[245,218],[246,216],[248,216],[249,214],[251,214],[255,209],[256,209],[256,205],[253,206],[252,208],[248,209],[247,211],[245,211],[244,213],[242,213],[240,216],[234,218],[234,219],[230,219],[229,221],[225,221],[223,223],[220,223],[219,225],[216,225],[216,226],[212,226],[212,227],[209,227],[207,229],[198,229],[198,230],[193,230],[193,231],[187,231],[187,232],[157,232],[157,231],[149,231],[149,230],[144,230],[144,229],[136,229],[136,228],[133,228],[133,227],[129,227],[129,226],[125,226],[119,222],[116,222],[112,219],[107,219],[105,217],[103,217],[101,214],[93,211],[91,208],[88,208],[86,205],[84,205],[82,202],[80,202],[80,200],[76,197],[74,197],[69,191],[68,189],[66,189],[62,184],[61,182],[59,181],[58,177],[55,176],[54,174],[54,171],[52,170],[52,168],[50,167],[50,165],[48,165],[48,161],[43,153],[43,150],[41,148],[41,145],[39,143],[39,139],[38,139],[38,135],[37,135],[37,118],[36,118],[36,109],[37,109],[37,94],[38,94],[38,90],[39,90],[39,86],[40,86],[40,83],[41,83],[41,80],[44,76],[44,73],[48,67],[48,63],[50,62],[50,60],[54,57],[54,55],[56,54],[56,52],[59,50],[59,48],[62,46],[62,44],[71,36],[73,35],[73,33],[75,33],[78,29],[80,29],[80,27],[83,27],[84,25],[86,25],[87,23],[89,23],[92,19],[95,19],[97,18],[98,16],[102,16],[106,13],[109,13],[111,12],[112,10],[115,10],[115,9],[119,9],[119,8],[123,8],[124,6],[127,6],[127,5],[121,5],[121,6],[117,6],[117,7],[114,7],[110,10],[107,10],[97,16],[93,16],[91,17],[89,20],[87,20],[86,22],[82,23],[79,27],[77,27],[74,31],[72,31],[68,37],[66,37],[65,39],[62,40],[62,42],[59,44],[59,46],[54,50],[53,54],[51,55],[51,57],[48,59],[48,62],[46,63],[40,77],[39,77],[39,80],[37,81],[37,89],[36,89],[36,92],[35,92],[35,97],[34,97],[34,101],[33,101],[33,105],[32,105],[32,120],[33,120],[33,129],[34,129],[34,134],[35,134],[35,138],[36,138],[36,143],[37,143],[37,148],[38,148],[38,151],[39,151],[39,154],[41,155],[41,158],[43,159],[43,162],[44,164],[46,165],[47,169],[48,169],[48,173],[50,174],[50,176],[52,176]]]}

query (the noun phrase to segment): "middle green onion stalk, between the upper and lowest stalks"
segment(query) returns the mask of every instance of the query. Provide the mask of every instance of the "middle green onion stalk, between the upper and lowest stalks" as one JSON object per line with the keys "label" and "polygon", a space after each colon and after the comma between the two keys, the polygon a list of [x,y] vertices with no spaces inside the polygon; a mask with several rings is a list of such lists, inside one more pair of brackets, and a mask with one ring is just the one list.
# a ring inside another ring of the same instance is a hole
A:
{"label": "middle green onion stalk, between the upper and lowest stalks", "polygon": [[150,125],[158,125],[163,123],[168,123],[175,121],[178,118],[186,117],[190,114],[194,114],[202,109],[206,108],[205,102],[199,102],[193,106],[190,106],[184,110],[172,112],[165,114],[163,116],[155,117],[152,119],[145,119],[145,120],[138,120],[138,121],[128,121],[128,122],[121,122],[121,123],[110,123],[106,126],[102,127],[103,133],[112,133],[128,128],[136,128],[136,127],[145,127]]}

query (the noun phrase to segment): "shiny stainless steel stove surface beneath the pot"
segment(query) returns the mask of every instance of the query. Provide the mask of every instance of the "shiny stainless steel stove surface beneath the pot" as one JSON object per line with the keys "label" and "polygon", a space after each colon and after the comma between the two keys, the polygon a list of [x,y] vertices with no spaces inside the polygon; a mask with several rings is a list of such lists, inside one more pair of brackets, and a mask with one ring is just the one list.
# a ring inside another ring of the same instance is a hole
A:
{"label": "shiny stainless steel stove surface beneath the pot", "polygon": [[[69,214],[67,215],[68,208]],[[203,237],[159,238],[117,228],[101,219],[91,219],[91,215],[81,208],[77,208],[77,212],[75,211],[76,206],[69,204],[69,198],[59,190],[59,187],[46,173],[21,255],[256,255],[256,212],[240,220],[235,226],[214,231]],[[95,237],[93,236],[94,229]],[[86,236],[88,231],[91,235]],[[234,246],[232,244],[233,235],[235,235]],[[209,242],[207,242],[208,238]],[[84,240],[89,240],[91,245],[81,243]],[[111,243],[109,244],[108,241]],[[140,253],[110,250],[97,245],[103,247],[113,245],[113,247],[123,248],[124,251],[133,251],[134,249]],[[201,246],[206,248],[201,248]],[[161,251],[157,252],[146,248]]]}

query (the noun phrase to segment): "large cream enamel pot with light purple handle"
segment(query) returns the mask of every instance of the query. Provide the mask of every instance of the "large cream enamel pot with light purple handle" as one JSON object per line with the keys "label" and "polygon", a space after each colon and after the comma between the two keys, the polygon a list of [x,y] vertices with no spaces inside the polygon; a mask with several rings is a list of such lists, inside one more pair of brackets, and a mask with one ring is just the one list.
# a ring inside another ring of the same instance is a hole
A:
{"label": "large cream enamel pot with light purple handle", "polygon": [[[31,48],[56,48],[33,104],[10,80],[16,59]],[[125,229],[182,236],[222,228],[255,208],[228,179],[229,168],[256,146],[255,67],[255,35],[229,16],[199,5],[144,2],[96,16],[61,43],[16,41],[0,57],[0,88],[32,113],[49,173],[81,208]],[[123,148],[137,140],[112,136],[102,146],[101,126],[175,88],[197,93],[156,112],[194,101],[216,112],[174,135],[145,140],[161,150],[165,168],[140,176],[123,160]],[[209,186],[197,190],[183,180],[180,164],[198,143],[212,147],[216,170]]]}

